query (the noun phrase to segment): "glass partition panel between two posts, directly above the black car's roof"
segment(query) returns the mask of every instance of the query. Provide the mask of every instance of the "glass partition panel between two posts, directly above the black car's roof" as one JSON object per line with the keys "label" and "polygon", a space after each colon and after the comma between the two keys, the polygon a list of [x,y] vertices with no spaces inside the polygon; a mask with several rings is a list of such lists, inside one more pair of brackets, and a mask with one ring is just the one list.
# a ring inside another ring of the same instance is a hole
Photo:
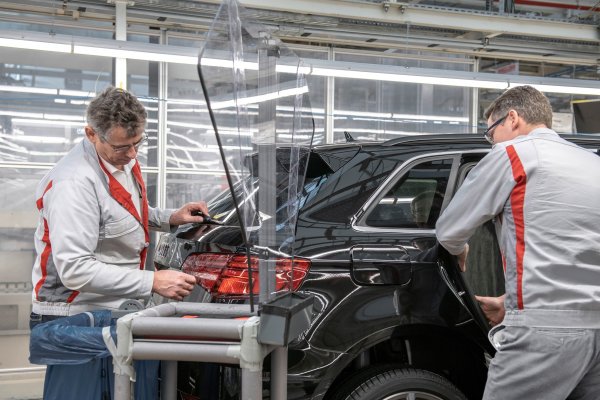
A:
{"label": "glass partition panel between two posts, directly above the black car's roof", "polygon": [[[414,51],[385,55],[336,51],[335,60],[453,71],[472,71],[474,63]],[[354,139],[387,140],[402,135],[475,131],[470,123],[472,89],[352,78],[335,78],[334,85],[334,141],[344,140],[344,132]]]}

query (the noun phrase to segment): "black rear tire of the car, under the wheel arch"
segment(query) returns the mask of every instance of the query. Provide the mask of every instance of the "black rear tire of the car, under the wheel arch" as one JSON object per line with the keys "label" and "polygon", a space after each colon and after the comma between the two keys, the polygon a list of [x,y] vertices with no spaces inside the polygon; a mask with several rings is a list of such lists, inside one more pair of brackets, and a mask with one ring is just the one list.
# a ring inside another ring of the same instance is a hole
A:
{"label": "black rear tire of the car, under the wheel arch", "polygon": [[[344,382],[348,394],[335,399],[343,400],[467,400],[446,378],[414,368],[396,368],[388,371],[366,371]],[[350,389],[353,388],[353,389]],[[349,392],[349,390],[352,390]]]}

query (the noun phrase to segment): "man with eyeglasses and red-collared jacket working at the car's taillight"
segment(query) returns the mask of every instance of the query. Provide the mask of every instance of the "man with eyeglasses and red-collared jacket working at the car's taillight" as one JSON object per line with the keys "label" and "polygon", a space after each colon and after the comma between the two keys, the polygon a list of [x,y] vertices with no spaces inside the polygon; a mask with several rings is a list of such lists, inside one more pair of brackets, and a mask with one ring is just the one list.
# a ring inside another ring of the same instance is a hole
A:
{"label": "man with eyeglasses and red-collared jacket working at the car's taillight", "polygon": [[[177,210],[149,206],[137,160],[148,139],[146,122],[133,94],[105,89],[87,108],[86,137],[38,184],[32,328],[78,313],[117,310],[124,300],[144,304],[152,293],[182,300],[193,290],[191,275],[145,268],[151,229],[169,231],[208,215],[202,201]],[[47,369],[44,399],[68,398],[48,384],[59,367]],[[72,374],[83,369],[70,367]]]}

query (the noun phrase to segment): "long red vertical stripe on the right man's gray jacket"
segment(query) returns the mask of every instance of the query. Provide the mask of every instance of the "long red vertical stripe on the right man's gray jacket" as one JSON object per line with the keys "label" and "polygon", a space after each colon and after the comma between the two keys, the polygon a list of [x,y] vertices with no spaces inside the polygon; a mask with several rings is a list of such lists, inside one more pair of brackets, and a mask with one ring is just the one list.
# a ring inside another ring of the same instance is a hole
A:
{"label": "long red vertical stripe on the right man's gray jacket", "polygon": [[527,184],[527,174],[521,163],[521,159],[517,154],[514,146],[506,148],[510,166],[512,167],[513,178],[516,182],[512,193],[510,194],[510,205],[515,221],[515,234],[517,246],[515,249],[517,258],[517,307],[522,310],[523,307],[523,257],[525,256],[525,185]]}

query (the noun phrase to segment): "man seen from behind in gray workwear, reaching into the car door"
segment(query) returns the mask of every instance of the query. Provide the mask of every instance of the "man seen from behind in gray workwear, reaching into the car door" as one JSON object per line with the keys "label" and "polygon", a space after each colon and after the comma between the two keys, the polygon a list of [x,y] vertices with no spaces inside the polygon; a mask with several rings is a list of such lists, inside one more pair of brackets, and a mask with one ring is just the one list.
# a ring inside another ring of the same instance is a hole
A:
{"label": "man seen from behind in gray workwear, reaching into the car door", "polygon": [[485,117],[492,150],[436,225],[464,270],[467,241],[496,222],[506,293],[479,300],[494,317],[503,300],[505,314],[484,399],[600,399],[600,157],[550,129],[550,103],[530,86]]}

